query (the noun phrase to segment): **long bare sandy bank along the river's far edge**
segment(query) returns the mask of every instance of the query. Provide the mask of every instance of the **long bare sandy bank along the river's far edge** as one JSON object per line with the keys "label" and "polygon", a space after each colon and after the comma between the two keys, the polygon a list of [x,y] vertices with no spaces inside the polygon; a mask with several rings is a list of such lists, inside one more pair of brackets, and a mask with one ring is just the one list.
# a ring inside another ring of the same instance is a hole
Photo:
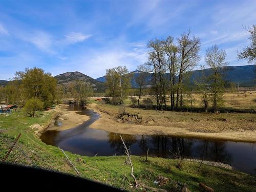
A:
{"label": "long bare sandy bank along the river's far edge", "polygon": [[138,134],[138,135],[172,135],[178,137],[191,138],[208,138],[230,141],[256,142],[256,130],[239,130],[239,131],[219,131],[214,133],[201,132],[200,130],[192,130],[190,127],[175,127],[175,126],[158,126],[118,122],[116,117],[108,113],[102,112],[99,106],[92,103],[90,109],[101,115],[101,118],[95,121],[90,127],[120,134]]}

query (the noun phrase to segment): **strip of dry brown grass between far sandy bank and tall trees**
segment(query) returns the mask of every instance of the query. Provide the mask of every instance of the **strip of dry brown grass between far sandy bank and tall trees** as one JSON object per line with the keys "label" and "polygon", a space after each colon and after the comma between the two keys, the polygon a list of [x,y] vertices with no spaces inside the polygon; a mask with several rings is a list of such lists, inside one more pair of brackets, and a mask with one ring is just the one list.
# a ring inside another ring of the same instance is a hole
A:
{"label": "strip of dry brown grass between far sandy bank and tall trees", "polygon": [[[123,122],[118,118],[120,106],[100,104],[96,109],[112,116],[115,120]],[[156,125],[167,127],[185,128],[194,132],[221,132],[221,131],[245,131],[256,130],[256,114],[250,113],[190,113],[144,110],[126,106],[126,113],[138,115],[141,121],[131,121],[141,125]],[[129,122],[129,121],[127,121]]]}

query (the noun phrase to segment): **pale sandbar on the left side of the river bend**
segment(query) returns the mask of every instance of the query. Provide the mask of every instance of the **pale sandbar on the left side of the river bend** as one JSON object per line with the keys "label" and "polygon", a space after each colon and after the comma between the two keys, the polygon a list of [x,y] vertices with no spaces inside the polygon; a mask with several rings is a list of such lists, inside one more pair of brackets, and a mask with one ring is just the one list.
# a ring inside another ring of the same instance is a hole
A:
{"label": "pale sandbar on the left side of the river bend", "polygon": [[59,114],[58,120],[62,124],[60,126],[54,126],[54,124],[51,123],[48,130],[68,130],[90,119],[87,115],[81,115],[81,111],[69,111],[68,106],[68,104],[59,104],[56,106],[54,111]]}

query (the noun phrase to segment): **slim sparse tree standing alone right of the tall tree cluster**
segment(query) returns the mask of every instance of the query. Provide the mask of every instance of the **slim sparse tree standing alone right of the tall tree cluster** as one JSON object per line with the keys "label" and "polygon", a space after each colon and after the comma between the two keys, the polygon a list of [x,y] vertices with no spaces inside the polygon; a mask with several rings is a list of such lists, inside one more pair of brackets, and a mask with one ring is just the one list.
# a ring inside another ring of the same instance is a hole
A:
{"label": "slim sparse tree standing alone right of the tall tree cluster", "polygon": [[219,50],[219,47],[217,45],[212,46],[206,50],[205,63],[206,66],[208,66],[212,70],[212,74],[209,76],[209,83],[212,108],[214,110],[217,109],[219,103],[222,103],[224,101],[223,71],[224,68],[228,65],[228,63],[225,61],[226,56],[226,52],[224,50]]}

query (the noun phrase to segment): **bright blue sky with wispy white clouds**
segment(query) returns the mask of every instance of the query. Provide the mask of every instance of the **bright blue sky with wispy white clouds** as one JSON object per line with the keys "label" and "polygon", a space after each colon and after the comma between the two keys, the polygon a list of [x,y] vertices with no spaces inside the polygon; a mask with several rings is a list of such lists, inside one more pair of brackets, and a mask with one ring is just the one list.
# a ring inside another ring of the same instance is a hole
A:
{"label": "bright blue sky with wispy white clouds", "polygon": [[80,71],[93,78],[147,60],[149,39],[179,37],[188,29],[205,50],[217,44],[231,66],[249,44],[256,1],[0,1],[0,79],[39,67],[57,75]]}

